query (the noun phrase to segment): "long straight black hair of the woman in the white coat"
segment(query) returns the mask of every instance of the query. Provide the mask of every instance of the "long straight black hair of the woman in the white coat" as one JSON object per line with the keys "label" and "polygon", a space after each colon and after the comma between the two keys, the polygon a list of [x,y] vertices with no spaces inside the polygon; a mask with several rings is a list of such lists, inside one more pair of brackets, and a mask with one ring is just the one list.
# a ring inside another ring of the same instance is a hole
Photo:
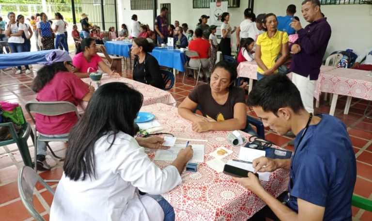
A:
{"label": "long straight black hair of the woman in the white coat", "polygon": [[[71,180],[96,177],[94,144],[102,136],[113,136],[113,145],[119,132],[134,136],[138,111],[143,96],[122,82],[107,83],[99,87],[90,99],[80,121],[71,129],[64,174]],[[109,149],[108,148],[108,149]]]}

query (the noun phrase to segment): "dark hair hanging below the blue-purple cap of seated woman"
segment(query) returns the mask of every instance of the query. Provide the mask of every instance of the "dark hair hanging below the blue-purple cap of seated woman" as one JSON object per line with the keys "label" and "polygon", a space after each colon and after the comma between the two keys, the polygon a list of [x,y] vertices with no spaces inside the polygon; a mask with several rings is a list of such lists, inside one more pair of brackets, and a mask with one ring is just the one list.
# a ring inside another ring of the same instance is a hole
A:
{"label": "dark hair hanging below the blue-purple cap of seated woman", "polygon": [[54,78],[54,75],[60,71],[68,71],[63,62],[56,62],[52,65],[44,65],[37,71],[36,77],[32,81],[32,91],[38,93],[43,87]]}

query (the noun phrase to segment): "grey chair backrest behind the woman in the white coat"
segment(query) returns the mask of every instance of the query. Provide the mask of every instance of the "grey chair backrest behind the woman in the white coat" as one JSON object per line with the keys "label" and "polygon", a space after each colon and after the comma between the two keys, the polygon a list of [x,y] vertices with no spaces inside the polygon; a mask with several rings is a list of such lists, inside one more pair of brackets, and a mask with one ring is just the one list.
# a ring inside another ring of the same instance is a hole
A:
{"label": "grey chair backrest behind the woman in the white coat", "polygon": [[51,189],[47,183],[31,168],[28,166],[22,167],[18,172],[18,192],[23,205],[31,214],[32,218],[37,221],[43,221],[44,218],[37,212],[33,206],[33,190],[37,182],[40,182],[52,195]]}

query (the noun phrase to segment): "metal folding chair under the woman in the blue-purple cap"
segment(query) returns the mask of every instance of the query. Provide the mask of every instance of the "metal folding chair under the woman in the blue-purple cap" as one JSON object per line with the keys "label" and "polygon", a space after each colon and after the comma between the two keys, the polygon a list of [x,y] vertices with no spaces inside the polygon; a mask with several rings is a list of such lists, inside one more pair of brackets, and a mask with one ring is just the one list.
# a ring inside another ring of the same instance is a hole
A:
{"label": "metal folding chair under the woman in the blue-purple cap", "polygon": [[[34,131],[34,146],[35,146],[35,168],[34,169],[36,171],[37,141],[44,141],[47,143],[56,142],[56,141],[67,142],[68,137],[50,138],[50,137],[43,136],[41,134],[37,134],[36,122],[31,112],[46,115],[46,116],[58,116],[58,115],[65,114],[65,113],[75,112],[78,118],[80,118],[80,116],[78,114],[77,107],[73,103],[70,103],[67,101],[52,101],[52,102],[29,101],[26,103],[25,107],[31,117],[33,124],[35,125],[33,131]],[[62,157],[56,156],[53,150],[50,148],[49,144],[47,144],[47,147],[50,153],[53,155],[53,157],[64,159]]]}

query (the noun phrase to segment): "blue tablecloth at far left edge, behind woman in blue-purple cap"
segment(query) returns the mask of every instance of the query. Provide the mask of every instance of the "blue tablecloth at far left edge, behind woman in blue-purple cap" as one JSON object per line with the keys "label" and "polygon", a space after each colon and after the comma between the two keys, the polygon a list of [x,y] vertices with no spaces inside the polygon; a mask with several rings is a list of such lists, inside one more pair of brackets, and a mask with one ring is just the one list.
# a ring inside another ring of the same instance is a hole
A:
{"label": "blue tablecloth at far left edge, behind woman in blue-purple cap", "polygon": [[0,54],[0,69],[46,62],[45,56],[55,50],[58,49]]}

